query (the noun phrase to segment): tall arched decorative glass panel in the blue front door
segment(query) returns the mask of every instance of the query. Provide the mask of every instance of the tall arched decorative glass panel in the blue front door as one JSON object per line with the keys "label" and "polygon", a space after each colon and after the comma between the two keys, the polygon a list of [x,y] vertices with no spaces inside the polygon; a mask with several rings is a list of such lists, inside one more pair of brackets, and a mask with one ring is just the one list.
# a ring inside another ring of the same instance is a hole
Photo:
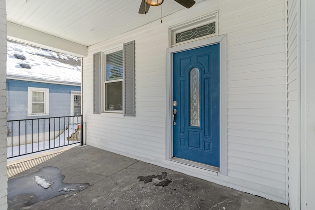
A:
{"label": "tall arched decorative glass panel in the blue front door", "polygon": [[200,126],[199,69],[190,70],[190,126]]}

